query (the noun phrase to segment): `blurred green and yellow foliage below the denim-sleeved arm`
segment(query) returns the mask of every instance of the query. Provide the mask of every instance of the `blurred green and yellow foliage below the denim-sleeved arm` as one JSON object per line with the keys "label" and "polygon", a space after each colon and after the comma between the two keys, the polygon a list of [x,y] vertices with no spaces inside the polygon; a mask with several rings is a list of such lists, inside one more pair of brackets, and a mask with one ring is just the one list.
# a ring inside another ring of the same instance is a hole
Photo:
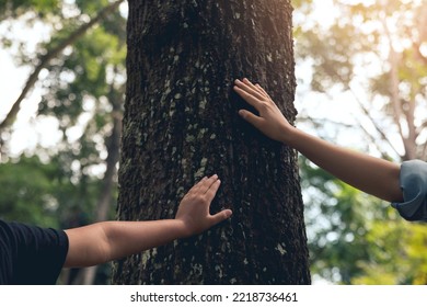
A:
{"label": "blurred green and yellow foliage below the denim-sleeved arm", "polygon": [[[337,284],[425,284],[427,227],[300,160],[311,272]],[[315,189],[315,190],[314,190]]]}

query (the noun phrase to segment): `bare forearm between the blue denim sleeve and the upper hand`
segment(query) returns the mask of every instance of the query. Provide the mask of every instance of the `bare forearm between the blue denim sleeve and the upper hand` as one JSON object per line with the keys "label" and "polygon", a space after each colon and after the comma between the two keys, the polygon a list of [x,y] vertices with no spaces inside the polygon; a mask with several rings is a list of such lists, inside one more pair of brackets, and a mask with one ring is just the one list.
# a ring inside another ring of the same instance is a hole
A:
{"label": "bare forearm between the blue denim sleeve and the upper hand", "polygon": [[282,140],[356,189],[389,202],[403,200],[399,164],[337,147],[293,127]]}

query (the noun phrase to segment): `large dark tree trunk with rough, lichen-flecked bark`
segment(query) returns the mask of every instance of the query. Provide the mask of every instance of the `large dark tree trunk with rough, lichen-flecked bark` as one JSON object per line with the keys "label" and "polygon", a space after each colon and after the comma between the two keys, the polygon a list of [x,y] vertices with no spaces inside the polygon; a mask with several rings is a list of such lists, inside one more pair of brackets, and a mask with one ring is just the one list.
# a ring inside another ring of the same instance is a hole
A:
{"label": "large dark tree trunk with rough, lichen-flecked bark", "polygon": [[292,123],[290,1],[129,1],[120,219],[173,218],[204,175],[221,187],[211,230],[117,261],[115,284],[309,284],[297,156],[244,123],[235,78]]}

